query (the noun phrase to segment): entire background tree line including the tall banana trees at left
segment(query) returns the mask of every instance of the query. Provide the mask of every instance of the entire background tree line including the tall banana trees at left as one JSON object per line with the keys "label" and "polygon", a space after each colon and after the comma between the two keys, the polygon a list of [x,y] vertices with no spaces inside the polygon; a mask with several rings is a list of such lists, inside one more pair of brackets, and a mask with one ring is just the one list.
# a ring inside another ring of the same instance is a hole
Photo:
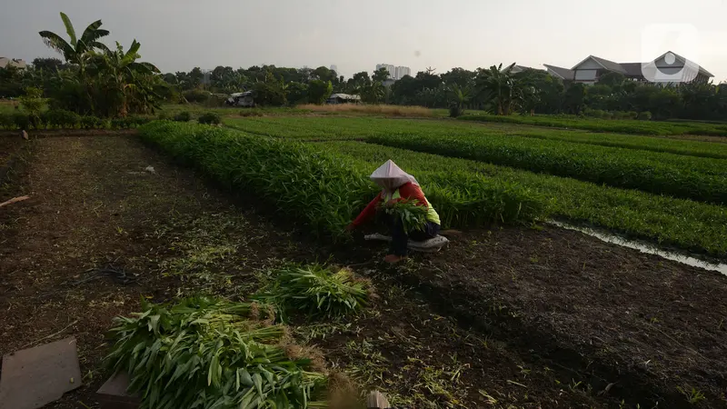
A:
{"label": "entire background tree line including the tall banana trees at left", "polygon": [[68,17],[62,13],[61,18],[67,39],[48,31],[40,36],[63,60],[36,58],[25,70],[0,68],[0,96],[26,95],[34,88],[55,108],[114,117],[153,113],[162,101],[222,105],[229,94],[253,91],[256,104],[270,106],[323,104],[331,94],[342,93],[360,95],[369,104],[448,108],[453,116],[478,109],[493,115],[727,120],[727,85],[662,86],[618,73],[602,75],[596,85],[583,85],[563,82],[544,70],[515,73],[514,64],[473,71],[457,67],[443,74],[427,68],[395,82],[384,68],[350,78],[324,66],[217,66],[209,72],[195,67],[162,74],[154,65],[138,61],[140,45],[135,40],[126,50],[118,43],[115,48],[102,43],[109,32],[100,20],[78,36]]}

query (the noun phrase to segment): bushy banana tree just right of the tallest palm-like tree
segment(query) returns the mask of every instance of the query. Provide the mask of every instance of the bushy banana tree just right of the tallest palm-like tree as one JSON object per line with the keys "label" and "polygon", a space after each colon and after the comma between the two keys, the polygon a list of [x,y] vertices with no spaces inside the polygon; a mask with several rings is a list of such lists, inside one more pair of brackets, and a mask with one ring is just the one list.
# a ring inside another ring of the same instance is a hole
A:
{"label": "bushy banana tree just right of the tallest palm-like tree", "polygon": [[[106,92],[114,95],[117,102],[115,115],[124,117],[128,115],[130,101],[141,103],[145,107],[153,104],[153,81],[150,77],[159,73],[159,69],[150,64],[136,62],[141,44],[134,40],[128,51],[118,42],[115,51],[107,51],[96,55],[98,76],[105,85]],[[133,100],[133,101],[132,101]]]}

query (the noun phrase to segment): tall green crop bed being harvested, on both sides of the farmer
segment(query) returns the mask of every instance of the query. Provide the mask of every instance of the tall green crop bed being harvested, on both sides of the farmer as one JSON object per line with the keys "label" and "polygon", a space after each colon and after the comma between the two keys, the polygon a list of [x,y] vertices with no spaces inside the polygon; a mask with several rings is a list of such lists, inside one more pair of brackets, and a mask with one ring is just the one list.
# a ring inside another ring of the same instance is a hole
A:
{"label": "tall green crop bed being harvested, on both sides of the farmer", "polygon": [[[373,168],[292,141],[171,122],[144,125],[142,137],[212,179],[272,205],[314,234],[346,237],[344,227],[373,198]],[[455,189],[450,186],[456,186]],[[423,186],[444,226],[533,220],[544,206],[527,188],[481,175],[442,173]]]}

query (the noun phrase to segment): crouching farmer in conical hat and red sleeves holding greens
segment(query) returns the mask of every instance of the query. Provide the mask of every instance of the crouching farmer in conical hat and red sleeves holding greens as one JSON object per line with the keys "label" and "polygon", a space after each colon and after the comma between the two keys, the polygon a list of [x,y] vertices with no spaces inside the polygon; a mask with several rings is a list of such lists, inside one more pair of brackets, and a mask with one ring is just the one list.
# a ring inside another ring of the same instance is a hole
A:
{"label": "crouching farmer in conical hat and red sleeves holding greens", "polygon": [[414,176],[404,172],[399,166],[388,160],[371,174],[371,180],[376,185],[381,186],[382,191],[379,195],[366,206],[363,212],[356,217],[352,224],[346,227],[352,231],[356,227],[371,220],[381,205],[393,205],[396,202],[407,200],[416,201],[416,205],[425,206],[426,224],[422,230],[416,230],[406,234],[402,220],[399,217],[390,217],[388,223],[391,226],[392,244],[389,248],[389,254],[383,258],[387,263],[395,264],[406,258],[406,245],[411,237],[415,241],[423,241],[434,238],[439,234],[439,214],[429,205],[424,197],[422,188],[414,179]]}

